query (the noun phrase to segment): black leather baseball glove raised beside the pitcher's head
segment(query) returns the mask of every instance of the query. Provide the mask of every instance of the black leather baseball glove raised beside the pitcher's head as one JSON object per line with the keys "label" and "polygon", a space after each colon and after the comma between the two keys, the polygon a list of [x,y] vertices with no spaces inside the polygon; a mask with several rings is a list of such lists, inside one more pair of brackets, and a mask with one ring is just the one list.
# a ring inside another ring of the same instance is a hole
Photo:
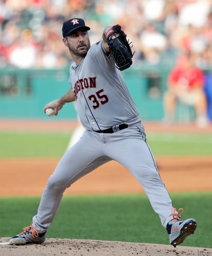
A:
{"label": "black leather baseball glove raised beside the pitcher's head", "polygon": [[[118,34],[117,37],[113,38],[113,35]],[[132,53],[129,40],[127,35],[121,30],[120,25],[115,25],[108,30],[106,34],[107,43],[110,49],[110,53],[114,58],[117,68],[124,70],[132,65]]]}

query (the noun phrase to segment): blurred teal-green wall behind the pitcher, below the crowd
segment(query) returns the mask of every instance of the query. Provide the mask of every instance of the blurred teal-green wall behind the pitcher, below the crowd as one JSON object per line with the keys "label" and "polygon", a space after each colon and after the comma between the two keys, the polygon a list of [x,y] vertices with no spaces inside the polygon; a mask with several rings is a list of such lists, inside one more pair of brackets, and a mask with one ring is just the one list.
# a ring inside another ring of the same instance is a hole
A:
{"label": "blurred teal-green wall behind the pitcher, below the crowd", "polygon": [[[163,118],[163,94],[170,67],[132,67],[122,71],[143,120]],[[0,118],[46,118],[43,107],[68,89],[69,71],[0,70]],[[212,84],[212,83],[211,83]],[[66,104],[57,117],[76,119],[74,104]]]}

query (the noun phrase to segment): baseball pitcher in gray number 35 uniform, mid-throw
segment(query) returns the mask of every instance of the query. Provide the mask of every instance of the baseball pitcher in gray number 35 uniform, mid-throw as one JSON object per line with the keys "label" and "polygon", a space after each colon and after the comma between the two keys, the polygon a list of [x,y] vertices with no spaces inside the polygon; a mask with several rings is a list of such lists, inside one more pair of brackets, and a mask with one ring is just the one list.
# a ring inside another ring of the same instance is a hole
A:
{"label": "baseball pitcher in gray number 35 uniform, mid-throw", "polygon": [[132,65],[131,45],[121,26],[105,28],[102,40],[90,45],[84,20],[73,18],[63,23],[63,44],[74,62],[69,69],[70,89],[44,107],[59,110],[68,102],[76,109],[85,132],[67,150],[48,179],[38,213],[31,225],[13,236],[10,244],[43,243],[66,188],[109,161],[126,167],[144,188],[153,210],[167,230],[174,247],[195,232],[195,219],[181,220],[183,209],[176,209],[161,180],[147,143],[143,123],[123,80],[121,71]]}

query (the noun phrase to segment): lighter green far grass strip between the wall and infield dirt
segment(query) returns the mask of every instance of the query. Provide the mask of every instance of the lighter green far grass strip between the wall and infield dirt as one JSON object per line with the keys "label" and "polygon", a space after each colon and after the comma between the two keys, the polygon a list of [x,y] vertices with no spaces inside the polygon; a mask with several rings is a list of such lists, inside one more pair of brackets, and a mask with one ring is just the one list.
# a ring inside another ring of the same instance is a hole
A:
{"label": "lighter green far grass strip between the wall and infield dirt", "polygon": [[[0,132],[1,157],[62,156],[69,133]],[[148,133],[154,155],[211,155],[211,134]]]}

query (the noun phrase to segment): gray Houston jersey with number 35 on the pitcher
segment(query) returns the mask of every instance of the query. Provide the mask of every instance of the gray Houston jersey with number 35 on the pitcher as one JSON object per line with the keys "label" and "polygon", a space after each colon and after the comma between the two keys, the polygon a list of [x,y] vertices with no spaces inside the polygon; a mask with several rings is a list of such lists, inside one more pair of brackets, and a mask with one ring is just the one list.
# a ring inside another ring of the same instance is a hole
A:
{"label": "gray Houston jersey with number 35 on the pitcher", "polygon": [[85,129],[98,131],[140,122],[125,81],[112,56],[104,53],[102,41],[91,46],[79,65],[70,66],[69,83]]}

